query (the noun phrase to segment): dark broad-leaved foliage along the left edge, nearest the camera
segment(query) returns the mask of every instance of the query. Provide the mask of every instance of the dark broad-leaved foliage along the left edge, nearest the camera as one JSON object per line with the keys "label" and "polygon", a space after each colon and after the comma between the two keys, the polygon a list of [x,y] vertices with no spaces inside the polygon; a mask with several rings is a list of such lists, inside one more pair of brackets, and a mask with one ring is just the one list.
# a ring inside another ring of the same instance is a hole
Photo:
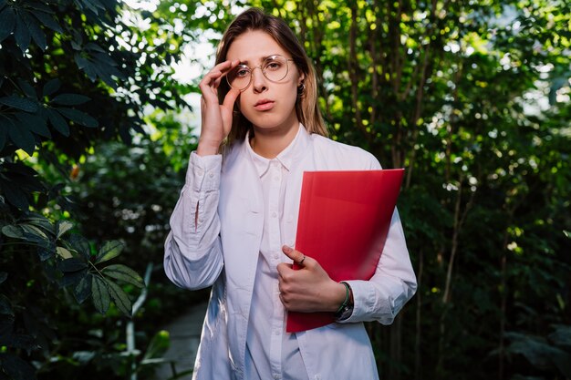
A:
{"label": "dark broad-leaved foliage along the left edge, nearest the camera", "polygon": [[[143,108],[185,106],[187,87],[164,66],[179,39],[151,18],[141,28],[113,0],[0,0],[0,378],[35,378],[63,363],[131,371],[113,346],[121,335],[98,326],[130,317],[144,284],[109,264],[124,239],[69,233],[81,228],[67,191],[72,165],[94,146],[143,132]],[[94,316],[88,298],[110,318]],[[77,349],[74,336],[98,331]],[[58,378],[77,378],[61,368]]]}

